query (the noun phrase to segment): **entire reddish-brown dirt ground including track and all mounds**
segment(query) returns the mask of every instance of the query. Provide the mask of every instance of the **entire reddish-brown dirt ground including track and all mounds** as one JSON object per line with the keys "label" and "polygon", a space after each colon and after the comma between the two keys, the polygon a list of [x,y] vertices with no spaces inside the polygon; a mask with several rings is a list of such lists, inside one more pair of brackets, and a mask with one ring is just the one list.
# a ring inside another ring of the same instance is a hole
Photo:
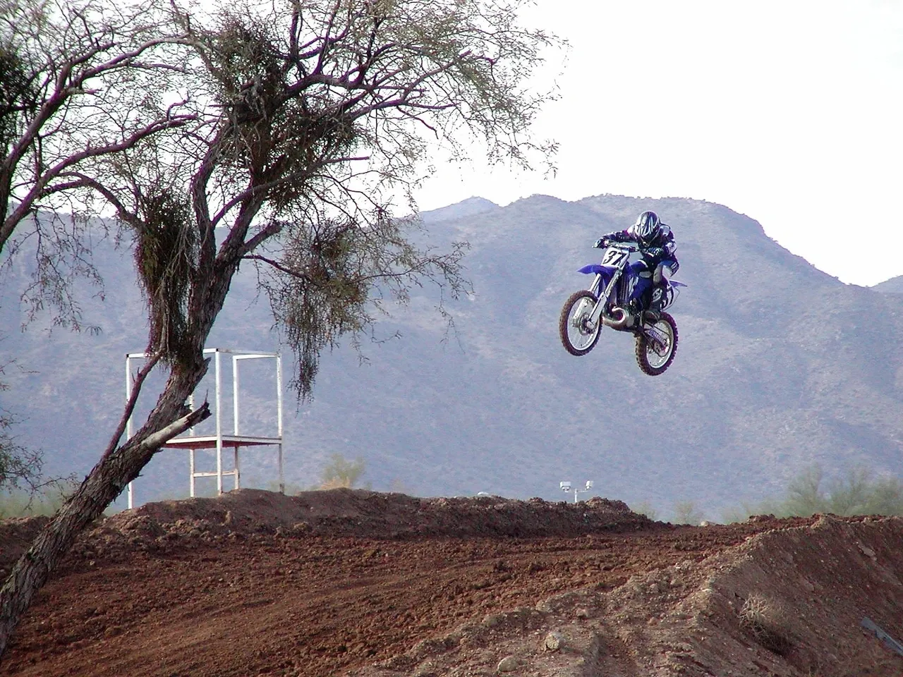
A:
{"label": "entire reddish-brown dirt ground including track and all mounds", "polygon": [[[0,575],[38,525],[0,523]],[[898,677],[903,656],[859,623],[903,638],[901,538],[896,518],[690,527],[605,499],[245,489],[99,523],[0,667]]]}

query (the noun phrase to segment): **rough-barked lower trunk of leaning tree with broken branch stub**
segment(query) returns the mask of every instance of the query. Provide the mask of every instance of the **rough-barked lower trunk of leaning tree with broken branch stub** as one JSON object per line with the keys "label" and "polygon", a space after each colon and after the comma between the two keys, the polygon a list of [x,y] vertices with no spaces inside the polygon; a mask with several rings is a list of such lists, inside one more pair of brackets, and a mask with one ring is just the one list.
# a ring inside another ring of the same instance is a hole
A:
{"label": "rough-barked lower trunk of leaning tree with broken branch stub", "polygon": [[122,446],[104,454],[75,494],[38,534],[28,552],[15,563],[0,589],[0,658],[20,617],[79,533],[122,493],[163,444],[209,417],[207,403],[191,413],[183,411],[188,394],[200,383],[206,370],[206,363],[201,363],[189,374],[171,375],[142,429]]}

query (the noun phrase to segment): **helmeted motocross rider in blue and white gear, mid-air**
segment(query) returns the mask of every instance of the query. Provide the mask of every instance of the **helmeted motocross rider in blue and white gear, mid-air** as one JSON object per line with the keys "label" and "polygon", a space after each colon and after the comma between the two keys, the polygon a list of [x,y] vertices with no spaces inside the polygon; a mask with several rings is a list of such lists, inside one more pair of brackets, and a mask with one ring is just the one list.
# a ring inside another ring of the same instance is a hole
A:
{"label": "helmeted motocross rider in blue and white gear, mid-air", "polygon": [[631,264],[638,282],[630,294],[628,311],[657,313],[661,309],[665,281],[680,267],[671,227],[662,223],[656,212],[647,210],[637,217],[633,226],[601,236],[595,246],[604,248],[610,242],[636,242],[639,247],[641,258]]}

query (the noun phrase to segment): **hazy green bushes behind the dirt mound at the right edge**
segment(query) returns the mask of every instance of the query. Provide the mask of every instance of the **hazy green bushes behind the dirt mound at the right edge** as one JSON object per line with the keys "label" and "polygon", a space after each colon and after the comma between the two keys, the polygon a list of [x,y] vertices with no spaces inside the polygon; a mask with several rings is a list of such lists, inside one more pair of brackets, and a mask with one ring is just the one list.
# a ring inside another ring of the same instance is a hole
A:
{"label": "hazy green bushes behind the dirt mound at the right edge", "polygon": [[805,468],[787,485],[783,499],[769,499],[724,515],[740,522],[749,515],[776,517],[833,515],[903,515],[903,483],[898,478],[874,478],[868,468],[856,466],[846,475],[825,481],[818,465]]}

